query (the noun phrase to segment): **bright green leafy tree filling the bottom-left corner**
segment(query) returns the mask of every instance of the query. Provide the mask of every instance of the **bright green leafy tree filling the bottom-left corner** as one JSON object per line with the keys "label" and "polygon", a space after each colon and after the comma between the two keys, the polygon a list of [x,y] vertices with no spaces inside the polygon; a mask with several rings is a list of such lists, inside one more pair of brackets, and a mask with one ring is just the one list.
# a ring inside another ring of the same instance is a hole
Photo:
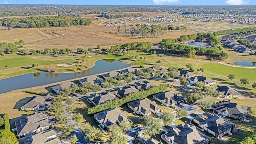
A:
{"label": "bright green leafy tree filling the bottom-left corner", "polygon": [[19,142],[10,129],[4,129],[0,131],[0,144],[19,144]]}

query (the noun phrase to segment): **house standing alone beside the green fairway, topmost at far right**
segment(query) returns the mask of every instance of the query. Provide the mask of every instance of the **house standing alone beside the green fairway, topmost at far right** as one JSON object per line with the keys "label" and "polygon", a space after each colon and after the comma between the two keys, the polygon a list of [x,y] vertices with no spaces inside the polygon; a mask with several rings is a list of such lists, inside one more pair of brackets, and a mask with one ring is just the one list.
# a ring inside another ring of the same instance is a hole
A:
{"label": "house standing alone beside the green fairway, topmost at far right", "polygon": [[214,90],[219,92],[220,98],[240,98],[241,94],[229,86],[217,86]]}

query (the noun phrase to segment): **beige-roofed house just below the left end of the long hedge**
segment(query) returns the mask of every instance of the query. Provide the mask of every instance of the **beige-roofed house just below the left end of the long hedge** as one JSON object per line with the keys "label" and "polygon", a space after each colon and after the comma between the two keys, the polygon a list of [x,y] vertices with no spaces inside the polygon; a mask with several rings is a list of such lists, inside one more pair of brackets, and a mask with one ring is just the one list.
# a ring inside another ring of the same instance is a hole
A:
{"label": "beige-roofed house just below the left end of the long hedge", "polygon": [[94,118],[97,120],[100,126],[102,126],[102,128],[108,127],[112,124],[118,124],[123,120],[129,120],[125,112],[119,108],[112,108],[110,110],[105,110],[103,112],[94,114]]}

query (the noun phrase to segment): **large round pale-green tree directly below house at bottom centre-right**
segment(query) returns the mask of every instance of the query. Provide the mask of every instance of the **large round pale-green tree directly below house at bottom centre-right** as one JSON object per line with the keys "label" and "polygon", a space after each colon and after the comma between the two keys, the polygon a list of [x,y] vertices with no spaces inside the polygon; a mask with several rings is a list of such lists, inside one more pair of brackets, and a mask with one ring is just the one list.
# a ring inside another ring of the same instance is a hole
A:
{"label": "large round pale-green tree directly below house at bottom centre-right", "polygon": [[144,130],[150,136],[160,134],[162,130],[162,120],[154,118],[152,116],[144,117],[143,122]]}

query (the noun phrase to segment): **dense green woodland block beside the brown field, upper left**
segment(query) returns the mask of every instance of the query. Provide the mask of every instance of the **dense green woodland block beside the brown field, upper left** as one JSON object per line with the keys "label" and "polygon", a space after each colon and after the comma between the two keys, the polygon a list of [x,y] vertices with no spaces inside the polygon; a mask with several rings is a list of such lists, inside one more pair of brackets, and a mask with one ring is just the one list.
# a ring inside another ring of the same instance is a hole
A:
{"label": "dense green woodland block beside the brown field, upper left", "polygon": [[28,18],[4,18],[2,26],[12,28],[47,28],[63,26],[88,26],[92,21],[73,16],[32,16]]}

